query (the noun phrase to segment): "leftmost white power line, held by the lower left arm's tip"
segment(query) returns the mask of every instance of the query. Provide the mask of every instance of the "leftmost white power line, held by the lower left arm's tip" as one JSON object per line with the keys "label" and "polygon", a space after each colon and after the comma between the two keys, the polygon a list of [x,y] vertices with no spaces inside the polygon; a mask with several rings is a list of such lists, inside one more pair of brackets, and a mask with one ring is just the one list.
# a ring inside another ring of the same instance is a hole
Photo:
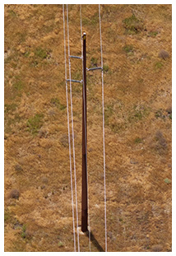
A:
{"label": "leftmost white power line, held by the lower left arm's tip", "polygon": [[70,177],[71,177],[71,191],[72,191],[72,226],[73,226],[74,250],[76,252],[74,201],[73,201],[73,189],[72,189],[72,156],[71,156],[70,127],[69,127],[70,121],[69,121],[69,107],[68,107],[68,95],[67,95],[67,61],[66,61],[64,4],[63,4],[63,38],[64,38],[65,80],[66,80],[66,100],[67,100],[67,133],[68,133],[69,158],[70,158]]}

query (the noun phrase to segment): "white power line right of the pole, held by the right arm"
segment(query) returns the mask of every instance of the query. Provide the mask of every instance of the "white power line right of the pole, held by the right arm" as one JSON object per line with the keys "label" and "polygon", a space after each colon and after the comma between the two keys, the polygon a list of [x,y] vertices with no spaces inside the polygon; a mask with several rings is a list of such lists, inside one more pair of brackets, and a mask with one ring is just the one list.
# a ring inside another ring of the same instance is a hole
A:
{"label": "white power line right of the pole, held by the right arm", "polygon": [[101,50],[101,79],[102,79],[102,111],[103,111],[103,147],[104,147],[104,226],[105,226],[105,251],[107,252],[107,226],[106,226],[106,173],[105,173],[105,134],[104,134],[104,69],[103,69],[103,46],[101,39],[101,14],[99,4],[99,20],[100,20],[100,50]]}

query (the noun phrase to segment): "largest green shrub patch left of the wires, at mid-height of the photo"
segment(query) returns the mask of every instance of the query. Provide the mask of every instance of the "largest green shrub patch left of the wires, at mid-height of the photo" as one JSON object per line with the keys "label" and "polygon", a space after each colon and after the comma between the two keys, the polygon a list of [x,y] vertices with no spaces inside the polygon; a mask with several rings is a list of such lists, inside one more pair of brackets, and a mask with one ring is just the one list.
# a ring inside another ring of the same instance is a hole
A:
{"label": "largest green shrub patch left of the wires, at mid-height of the photo", "polygon": [[35,114],[35,116],[28,119],[27,120],[28,131],[33,135],[38,133],[39,128],[41,128],[43,125],[43,119],[44,119],[44,114]]}

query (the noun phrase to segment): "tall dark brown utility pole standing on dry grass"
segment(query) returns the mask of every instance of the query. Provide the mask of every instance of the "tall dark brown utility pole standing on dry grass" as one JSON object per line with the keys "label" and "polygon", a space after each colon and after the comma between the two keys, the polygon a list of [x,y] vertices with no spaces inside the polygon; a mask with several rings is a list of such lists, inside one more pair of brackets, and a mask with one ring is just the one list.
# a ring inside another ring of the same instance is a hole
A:
{"label": "tall dark brown utility pole standing on dry grass", "polygon": [[86,33],[83,33],[81,230],[87,230]]}

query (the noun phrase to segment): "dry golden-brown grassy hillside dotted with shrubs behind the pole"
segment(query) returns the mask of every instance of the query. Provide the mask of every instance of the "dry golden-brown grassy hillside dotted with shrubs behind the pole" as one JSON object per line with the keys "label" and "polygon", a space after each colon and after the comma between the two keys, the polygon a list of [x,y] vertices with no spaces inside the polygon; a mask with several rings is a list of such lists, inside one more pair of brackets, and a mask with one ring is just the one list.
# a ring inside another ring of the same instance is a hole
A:
{"label": "dry golden-brown grassy hillside dotted with shrubs behind the pole", "polygon": [[[100,66],[98,11],[82,5],[87,67]],[[101,5],[108,251],[171,251],[171,13]],[[69,21],[80,56],[79,5]],[[4,61],[5,251],[73,251],[62,5],[5,5]],[[81,225],[81,84],[72,97]],[[87,73],[87,125],[90,227],[104,249],[100,71]],[[80,246],[89,251],[86,235]]]}

